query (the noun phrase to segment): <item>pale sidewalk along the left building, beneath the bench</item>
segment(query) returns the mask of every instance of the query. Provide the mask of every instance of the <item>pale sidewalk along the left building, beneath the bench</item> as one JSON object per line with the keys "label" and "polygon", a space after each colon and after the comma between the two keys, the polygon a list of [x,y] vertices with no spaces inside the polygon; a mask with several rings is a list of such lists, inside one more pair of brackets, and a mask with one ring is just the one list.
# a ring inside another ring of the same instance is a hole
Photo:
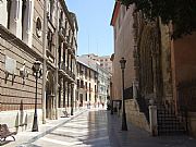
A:
{"label": "pale sidewalk along the left building, beneath the bench", "polygon": [[59,118],[58,120],[47,120],[46,124],[39,124],[39,132],[32,132],[32,130],[27,130],[25,132],[20,132],[15,135],[15,142],[13,142],[12,137],[8,137],[5,142],[0,143],[0,146],[3,147],[26,147],[25,144],[29,144],[35,142],[36,139],[45,136],[46,134],[52,132],[64,123],[73,120],[77,115],[84,113],[86,111],[85,108],[79,108],[74,115],[69,118]]}

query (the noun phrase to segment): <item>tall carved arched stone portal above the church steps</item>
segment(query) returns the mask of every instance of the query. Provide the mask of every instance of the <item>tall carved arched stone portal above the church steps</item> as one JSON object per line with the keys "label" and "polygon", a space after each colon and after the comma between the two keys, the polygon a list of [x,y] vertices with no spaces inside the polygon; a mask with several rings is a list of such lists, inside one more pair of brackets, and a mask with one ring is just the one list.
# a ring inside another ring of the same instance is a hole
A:
{"label": "tall carved arched stone portal above the church steps", "polygon": [[148,101],[162,100],[162,71],[159,26],[146,24],[139,41],[139,89]]}

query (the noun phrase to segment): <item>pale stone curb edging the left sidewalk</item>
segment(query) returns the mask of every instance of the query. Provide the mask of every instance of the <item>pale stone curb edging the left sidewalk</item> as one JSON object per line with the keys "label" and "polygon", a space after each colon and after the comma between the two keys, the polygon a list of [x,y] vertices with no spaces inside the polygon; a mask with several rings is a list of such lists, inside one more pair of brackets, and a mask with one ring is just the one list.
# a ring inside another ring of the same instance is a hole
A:
{"label": "pale stone curb edging the left sidewalk", "polygon": [[37,136],[28,139],[26,143],[22,143],[21,145],[17,145],[17,146],[15,146],[15,147],[30,147],[29,144],[32,144],[32,143],[34,143],[35,140],[39,139],[40,137],[49,134],[50,132],[54,131],[56,128],[60,127],[61,125],[63,125],[63,124],[65,124],[65,123],[68,123],[68,122],[70,122],[70,121],[72,121],[73,119],[77,118],[78,115],[83,114],[83,113],[86,112],[86,111],[87,111],[86,109],[79,111],[79,112],[76,113],[75,115],[71,117],[69,120],[65,120],[64,122],[62,122],[62,123],[60,123],[60,124],[58,124],[58,125],[56,125],[56,126],[53,126],[53,127],[51,127],[51,128],[48,128],[47,131],[45,131],[45,132],[38,134]]}

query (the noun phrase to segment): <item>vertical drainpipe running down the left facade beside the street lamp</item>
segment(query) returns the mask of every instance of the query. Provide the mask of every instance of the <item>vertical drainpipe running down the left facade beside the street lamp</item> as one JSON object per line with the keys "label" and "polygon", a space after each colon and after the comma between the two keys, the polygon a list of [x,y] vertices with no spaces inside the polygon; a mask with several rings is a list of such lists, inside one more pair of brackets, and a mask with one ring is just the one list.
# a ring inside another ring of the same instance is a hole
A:
{"label": "vertical drainpipe running down the left facade beside the street lamp", "polygon": [[44,28],[42,28],[42,124],[46,123],[46,48],[47,48],[47,0],[44,3]]}

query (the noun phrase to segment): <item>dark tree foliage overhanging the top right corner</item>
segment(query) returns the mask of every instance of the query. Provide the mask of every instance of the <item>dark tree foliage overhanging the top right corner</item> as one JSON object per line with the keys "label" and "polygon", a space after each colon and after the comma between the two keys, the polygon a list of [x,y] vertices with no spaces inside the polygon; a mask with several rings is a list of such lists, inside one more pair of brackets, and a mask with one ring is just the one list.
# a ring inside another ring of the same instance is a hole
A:
{"label": "dark tree foliage overhanging the top right corner", "polygon": [[163,24],[171,21],[174,39],[196,30],[196,0],[120,0],[130,7],[135,4],[135,11],[142,11],[148,21],[161,17]]}

